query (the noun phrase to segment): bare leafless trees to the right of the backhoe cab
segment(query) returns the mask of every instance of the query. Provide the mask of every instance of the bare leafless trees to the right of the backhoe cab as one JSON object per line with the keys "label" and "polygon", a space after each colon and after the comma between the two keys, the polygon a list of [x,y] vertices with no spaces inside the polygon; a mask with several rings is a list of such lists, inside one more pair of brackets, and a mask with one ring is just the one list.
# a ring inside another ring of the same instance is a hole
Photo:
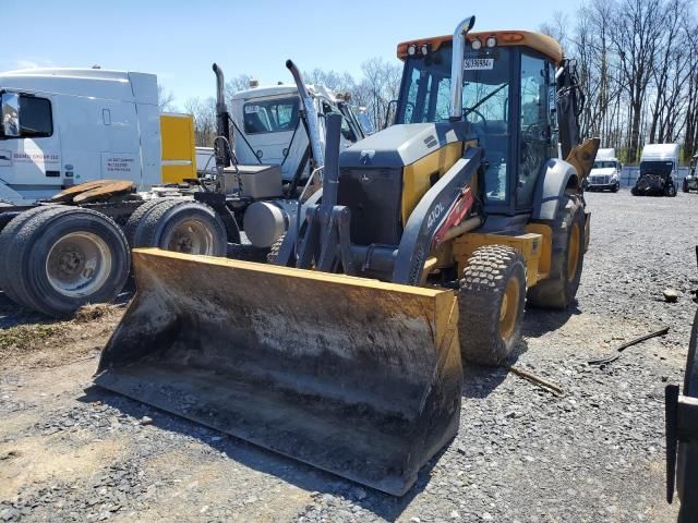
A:
{"label": "bare leafless trees to the right of the backhoe cab", "polygon": [[698,33],[693,0],[589,0],[540,31],[577,60],[582,136],[636,162],[646,143],[698,147]]}

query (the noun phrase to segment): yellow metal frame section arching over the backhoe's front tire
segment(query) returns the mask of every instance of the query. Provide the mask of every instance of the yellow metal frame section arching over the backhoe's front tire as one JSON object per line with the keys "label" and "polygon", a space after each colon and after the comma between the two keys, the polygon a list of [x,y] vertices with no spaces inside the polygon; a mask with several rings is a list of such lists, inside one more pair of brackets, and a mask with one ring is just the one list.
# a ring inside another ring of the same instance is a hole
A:
{"label": "yellow metal frame section arching over the backhoe's front tire", "polygon": [[543,235],[532,232],[519,234],[469,232],[454,240],[454,258],[458,264],[458,273],[462,273],[466,262],[482,245],[508,245],[520,252],[526,262],[526,284],[532,287],[547,275],[539,270],[543,247]]}

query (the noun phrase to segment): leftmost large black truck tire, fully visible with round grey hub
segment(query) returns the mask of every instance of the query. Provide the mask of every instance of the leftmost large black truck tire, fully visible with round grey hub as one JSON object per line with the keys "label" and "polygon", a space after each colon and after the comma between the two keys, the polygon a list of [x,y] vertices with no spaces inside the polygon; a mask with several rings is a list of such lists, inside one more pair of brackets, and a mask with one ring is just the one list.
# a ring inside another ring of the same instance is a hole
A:
{"label": "leftmost large black truck tire, fully visible with round grey hub", "polygon": [[67,316],[87,303],[110,302],[127,281],[127,240],[100,212],[55,206],[8,229],[5,278],[28,308]]}

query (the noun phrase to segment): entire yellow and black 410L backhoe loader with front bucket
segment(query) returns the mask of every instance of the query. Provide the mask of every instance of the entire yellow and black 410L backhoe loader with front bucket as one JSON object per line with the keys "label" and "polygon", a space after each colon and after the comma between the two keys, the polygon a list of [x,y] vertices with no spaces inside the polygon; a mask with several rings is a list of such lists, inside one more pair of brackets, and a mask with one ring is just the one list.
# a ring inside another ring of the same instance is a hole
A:
{"label": "entire yellow and black 410L backhoe loader with front bucket", "polygon": [[135,250],[96,384],[405,494],[458,429],[461,356],[506,360],[527,300],[566,307],[589,240],[574,62],[473,22],[398,46],[394,125],[339,153],[328,117],[270,264]]}

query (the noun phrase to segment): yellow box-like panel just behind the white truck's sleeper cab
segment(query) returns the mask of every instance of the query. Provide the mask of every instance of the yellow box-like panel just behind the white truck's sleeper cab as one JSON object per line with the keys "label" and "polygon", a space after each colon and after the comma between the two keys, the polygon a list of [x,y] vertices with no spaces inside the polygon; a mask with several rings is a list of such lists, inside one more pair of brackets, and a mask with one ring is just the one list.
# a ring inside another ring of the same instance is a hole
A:
{"label": "yellow box-like panel just behind the white truck's sleeper cab", "polygon": [[163,183],[181,183],[196,178],[194,117],[160,114]]}

